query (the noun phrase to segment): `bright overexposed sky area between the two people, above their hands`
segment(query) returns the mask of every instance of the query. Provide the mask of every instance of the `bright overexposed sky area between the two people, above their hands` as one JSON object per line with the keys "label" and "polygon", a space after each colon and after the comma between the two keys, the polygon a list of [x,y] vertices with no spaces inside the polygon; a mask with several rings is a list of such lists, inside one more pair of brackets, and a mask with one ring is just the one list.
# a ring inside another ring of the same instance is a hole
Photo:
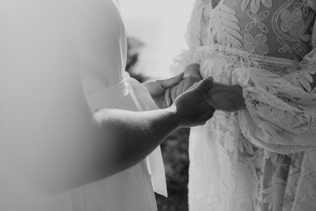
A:
{"label": "bright overexposed sky area between the two people, above their hands", "polygon": [[185,47],[194,0],[119,0],[128,37],[145,44],[139,57],[145,75],[168,78],[172,58]]}

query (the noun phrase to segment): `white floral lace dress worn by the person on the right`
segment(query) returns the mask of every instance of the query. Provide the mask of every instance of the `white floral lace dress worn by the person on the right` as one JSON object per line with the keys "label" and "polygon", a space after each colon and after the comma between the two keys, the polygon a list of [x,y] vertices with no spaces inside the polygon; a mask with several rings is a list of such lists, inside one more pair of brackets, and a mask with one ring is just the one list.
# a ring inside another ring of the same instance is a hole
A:
{"label": "white floral lace dress worn by the person on the right", "polygon": [[196,0],[175,71],[239,84],[247,110],[191,128],[192,211],[316,209],[316,28],[309,0]]}

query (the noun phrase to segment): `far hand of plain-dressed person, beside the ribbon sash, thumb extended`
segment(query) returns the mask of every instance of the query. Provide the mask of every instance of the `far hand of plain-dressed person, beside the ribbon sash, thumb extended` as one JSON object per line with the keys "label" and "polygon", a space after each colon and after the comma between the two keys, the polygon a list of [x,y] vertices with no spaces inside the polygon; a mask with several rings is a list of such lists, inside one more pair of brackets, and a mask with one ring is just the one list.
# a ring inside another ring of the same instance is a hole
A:
{"label": "far hand of plain-dressed person, beside the ribbon sash, thumb extended", "polygon": [[176,85],[183,78],[183,73],[166,80],[157,80],[155,82],[148,82],[143,86],[148,90],[149,94],[160,109],[167,108],[171,103],[166,102],[165,91],[167,88]]}

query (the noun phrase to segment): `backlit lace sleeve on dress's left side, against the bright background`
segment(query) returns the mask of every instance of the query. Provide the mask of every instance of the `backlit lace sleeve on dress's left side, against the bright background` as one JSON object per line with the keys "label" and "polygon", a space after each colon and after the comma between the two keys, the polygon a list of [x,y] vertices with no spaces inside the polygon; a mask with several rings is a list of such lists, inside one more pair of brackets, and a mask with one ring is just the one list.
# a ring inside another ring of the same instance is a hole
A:
{"label": "backlit lace sleeve on dress's left side, against the bright background", "polygon": [[185,70],[185,67],[193,64],[200,63],[200,58],[196,53],[196,48],[201,45],[201,14],[202,5],[205,0],[197,0],[194,4],[194,8],[191,13],[190,21],[185,33],[185,41],[187,44],[186,49],[182,50],[182,53],[173,58],[173,64],[171,65],[171,72],[177,75]]}

